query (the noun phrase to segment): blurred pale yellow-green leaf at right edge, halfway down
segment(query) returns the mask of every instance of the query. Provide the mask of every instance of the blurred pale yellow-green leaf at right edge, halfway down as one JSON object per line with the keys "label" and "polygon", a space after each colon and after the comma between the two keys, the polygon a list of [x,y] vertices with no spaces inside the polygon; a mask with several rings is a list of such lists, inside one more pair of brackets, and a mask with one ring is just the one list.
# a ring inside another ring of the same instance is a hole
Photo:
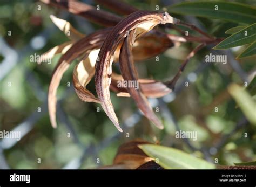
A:
{"label": "blurred pale yellow-green leaf at right edge, halfway down", "polygon": [[247,120],[256,126],[256,103],[251,95],[237,84],[228,86],[228,92],[234,98],[235,102],[237,102]]}

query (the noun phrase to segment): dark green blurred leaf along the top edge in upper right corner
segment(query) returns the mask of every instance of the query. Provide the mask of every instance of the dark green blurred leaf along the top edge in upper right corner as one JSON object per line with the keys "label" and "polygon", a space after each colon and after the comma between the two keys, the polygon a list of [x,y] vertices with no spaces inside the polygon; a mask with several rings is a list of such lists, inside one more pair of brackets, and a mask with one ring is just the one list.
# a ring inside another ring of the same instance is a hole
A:
{"label": "dark green blurred leaf along the top edge in upper right corner", "polygon": [[[218,10],[215,10],[217,9]],[[227,20],[235,23],[252,24],[256,22],[256,9],[253,6],[232,2],[184,2],[168,8],[169,12],[199,17]]]}

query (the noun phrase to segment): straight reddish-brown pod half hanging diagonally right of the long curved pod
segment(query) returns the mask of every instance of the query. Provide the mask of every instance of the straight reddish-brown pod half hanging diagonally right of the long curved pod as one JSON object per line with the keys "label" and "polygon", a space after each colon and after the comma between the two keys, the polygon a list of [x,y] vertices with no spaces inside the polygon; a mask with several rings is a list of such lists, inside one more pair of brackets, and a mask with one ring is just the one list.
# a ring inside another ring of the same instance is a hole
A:
{"label": "straight reddish-brown pod half hanging diagonally right of the long curved pod", "polygon": [[[120,70],[121,74],[125,81],[138,82],[138,73],[133,63],[133,55],[132,55],[132,45],[135,39],[136,29],[132,30],[128,36],[126,36],[124,40],[124,44],[120,50]],[[135,87],[127,87],[127,91],[130,93],[136,105],[140,110],[142,110],[143,114],[147,119],[152,121],[159,129],[163,129],[164,126],[161,124],[158,117],[154,114],[150,103],[147,101],[146,97],[140,91],[142,88]]]}

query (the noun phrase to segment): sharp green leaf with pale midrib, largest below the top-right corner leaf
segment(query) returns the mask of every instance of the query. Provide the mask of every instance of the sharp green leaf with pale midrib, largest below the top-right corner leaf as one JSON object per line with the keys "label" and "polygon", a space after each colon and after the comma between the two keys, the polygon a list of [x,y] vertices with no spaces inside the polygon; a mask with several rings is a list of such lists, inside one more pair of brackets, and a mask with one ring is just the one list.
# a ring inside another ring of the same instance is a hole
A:
{"label": "sharp green leaf with pale midrib, largest below the top-right corner leaf", "polygon": [[221,41],[213,47],[215,50],[223,50],[231,47],[237,47],[245,44],[251,44],[256,41],[256,23],[245,27],[241,31],[234,33],[230,37]]}

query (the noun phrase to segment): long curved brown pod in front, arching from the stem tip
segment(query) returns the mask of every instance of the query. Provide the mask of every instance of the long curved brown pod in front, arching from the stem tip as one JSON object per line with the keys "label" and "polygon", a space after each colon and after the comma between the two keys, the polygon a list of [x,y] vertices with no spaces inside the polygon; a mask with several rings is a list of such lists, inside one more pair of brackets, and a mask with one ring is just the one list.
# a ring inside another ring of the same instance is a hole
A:
{"label": "long curved brown pod in front, arching from the stem tip", "polygon": [[114,112],[113,105],[111,103],[109,91],[114,51],[117,49],[120,41],[122,41],[131,30],[137,29],[134,37],[139,38],[158,24],[174,22],[176,22],[176,20],[174,20],[174,18],[172,18],[167,12],[137,11],[131,13],[131,15],[127,16],[114,26],[100,49],[99,61],[96,63],[96,91],[107,116],[109,116],[110,120],[121,132],[123,130],[119,126],[116,113]]}

